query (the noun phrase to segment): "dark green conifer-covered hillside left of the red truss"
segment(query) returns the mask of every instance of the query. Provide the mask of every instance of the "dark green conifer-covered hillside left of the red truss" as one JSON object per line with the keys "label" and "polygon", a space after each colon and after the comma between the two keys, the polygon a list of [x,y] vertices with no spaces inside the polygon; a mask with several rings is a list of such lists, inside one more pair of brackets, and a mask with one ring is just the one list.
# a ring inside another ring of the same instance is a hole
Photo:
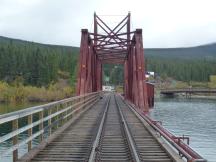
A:
{"label": "dark green conifer-covered hillside left of the red truss", "polygon": [[79,48],[0,37],[0,81],[48,86],[59,75],[75,76]]}

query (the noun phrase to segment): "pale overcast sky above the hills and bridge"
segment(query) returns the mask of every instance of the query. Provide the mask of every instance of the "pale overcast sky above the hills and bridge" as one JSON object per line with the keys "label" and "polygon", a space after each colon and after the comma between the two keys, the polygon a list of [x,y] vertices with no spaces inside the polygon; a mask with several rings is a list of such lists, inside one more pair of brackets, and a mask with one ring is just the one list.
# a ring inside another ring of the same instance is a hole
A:
{"label": "pale overcast sky above the hills and bridge", "polygon": [[[0,0],[0,35],[79,46],[93,13],[126,15],[143,29],[144,47],[183,47],[216,42],[216,0]],[[102,16],[110,24],[120,16]]]}

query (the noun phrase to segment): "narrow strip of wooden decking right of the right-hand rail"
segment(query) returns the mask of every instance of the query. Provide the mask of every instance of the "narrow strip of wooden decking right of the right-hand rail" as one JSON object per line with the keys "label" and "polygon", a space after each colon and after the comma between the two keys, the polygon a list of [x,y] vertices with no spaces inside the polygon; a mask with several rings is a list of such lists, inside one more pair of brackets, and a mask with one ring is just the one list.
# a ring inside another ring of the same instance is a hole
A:
{"label": "narrow strip of wooden decking right of the right-hand rail", "polygon": [[[174,159],[161,146],[155,137],[144,127],[139,118],[132,112],[120,97],[117,97],[118,105],[127,120],[140,161],[144,162],[172,162]],[[181,159],[180,159],[181,160]]]}

